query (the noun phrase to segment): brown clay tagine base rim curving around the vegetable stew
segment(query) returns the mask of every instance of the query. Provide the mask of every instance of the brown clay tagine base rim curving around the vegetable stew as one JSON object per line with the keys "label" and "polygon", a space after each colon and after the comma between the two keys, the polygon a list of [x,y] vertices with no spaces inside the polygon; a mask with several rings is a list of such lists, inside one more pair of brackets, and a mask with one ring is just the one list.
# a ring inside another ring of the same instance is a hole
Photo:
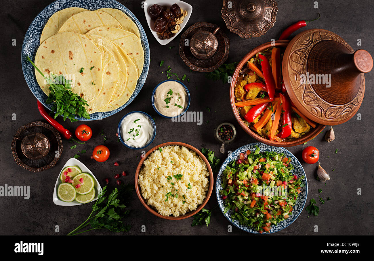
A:
{"label": "brown clay tagine base rim curving around the vegetable stew", "polygon": [[316,126],[316,128],[312,129],[311,131],[309,131],[308,133],[306,133],[301,138],[295,139],[295,140],[292,140],[292,141],[278,142],[278,141],[270,141],[269,139],[265,139],[265,138],[261,137],[260,135],[258,135],[257,133],[255,133],[254,131],[252,131],[252,129],[250,129],[243,122],[243,120],[240,117],[239,112],[237,111],[236,106],[235,106],[234,88],[235,88],[236,80],[237,80],[237,78],[239,76],[240,69],[242,69],[242,67],[246,64],[246,62],[249,59],[251,59],[256,53],[258,53],[260,51],[264,51],[264,50],[266,50],[266,49],[268,49],[270,47],[286,48],[287,45],[288,45],[288,43],[289,43],[289,41],[275,41],[274,45],[272,45],[271,42],[264,43],[264,44],[261,44],[260,46],[258,46],[256,48],[254,48],[249,53],[247,53],[243,57],[243,59],[239,62],[239,64],[236,66],[236,69],[235,69],[234,74],[233,74],[233,81],[231,82],[231,85],[230,85],[230,103],[231,103],[231,108],[233,110],[235,118],[236,118],[237,122],[239,123],[240,127],[242,127],[242,129],[246,133],[248,133],[253,138],[257,139],[258,141],[260,141],[260,142],[262,142],[264,144],[267,144],[267,145],[270,145],[270,146],[276,146],[276,147],[292,147],[292,146],[304,144],[305,142],[310,141],[315,136],[317,136],[321,131],[323,131],[323,129],[325,128],[325,125],[318,124]]}

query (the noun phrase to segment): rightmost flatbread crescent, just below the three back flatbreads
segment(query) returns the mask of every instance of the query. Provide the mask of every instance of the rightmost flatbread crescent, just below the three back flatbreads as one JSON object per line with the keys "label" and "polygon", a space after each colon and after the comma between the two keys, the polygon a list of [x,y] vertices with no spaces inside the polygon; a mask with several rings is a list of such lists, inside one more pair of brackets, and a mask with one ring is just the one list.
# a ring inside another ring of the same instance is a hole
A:
{"label": "rightmost flatbread crescent, just below the three back flatbreads", "polygon": [[100,35],[118,44],[134,62],[137,67],[138,78],[140,77],[144,67],[144,50],[141,41],[135,34],[110,26],[98,26],[90,30],[88,34]]}

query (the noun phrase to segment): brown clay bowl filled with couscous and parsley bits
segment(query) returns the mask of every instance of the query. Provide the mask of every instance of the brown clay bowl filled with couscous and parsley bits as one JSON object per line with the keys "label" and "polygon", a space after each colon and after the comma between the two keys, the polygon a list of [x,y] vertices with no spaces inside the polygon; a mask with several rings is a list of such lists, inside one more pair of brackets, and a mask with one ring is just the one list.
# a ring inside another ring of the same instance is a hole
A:
{"label": "brown clay bowl filled with couscous and parsley bits", "polygon": [[214,186],[205,156],[182,142],[160,144],[141,159],[135,191],[143,206],[157,217],[181,220],[198,213]]}

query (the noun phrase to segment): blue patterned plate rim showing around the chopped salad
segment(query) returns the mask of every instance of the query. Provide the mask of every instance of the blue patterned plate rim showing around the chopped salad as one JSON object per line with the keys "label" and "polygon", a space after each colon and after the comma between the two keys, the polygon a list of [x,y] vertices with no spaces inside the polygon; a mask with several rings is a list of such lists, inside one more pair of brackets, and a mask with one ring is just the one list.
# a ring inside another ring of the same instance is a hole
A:
{"label": "blue patterned plate rim showing around the chopped salad", "polygon": [[[305,176],[303,166],[301,166],[301,164],[297,160],[297,158],[291,152],[286,150],[285,148],[273,147],[273,146],[269,146],[269,145],[266,145],[266,144],[263,144],[263,143],[251,143],[251,144],[245,145],[243,147],[240,147],[236,151],[232,152],[232,154],[230,154],[229,157],[227,157],[226,160],[223,162],[223,164],[222,164],[222,166],[221,166],[221,168],[218,172],[217,180],[215,182],[215,188],[216,188],[215,195],[217,196],[218,205],[220,206],[220,209],[221,209],[222,213],[223,213],[224,208],[225,208],[224,207],[224,200],[221,199],[221,195],[220,195],[220,190],[222,190],[222,179],[224,179],[223,171],[226,169],[226,166],[230,162],[232,162],[233,160],[237,160],[240,153],[245,153],[247,150],[255,151],[256,146],[260,148],[260,152],[274,151],[274,152],[277,152],[277,153],[283,153],[286,157],[291,158],[290,162],[291,162],[292,166],[294,166],[294,168],[295,168],[291,172],[296,174],[298,177]],[[304,182],[305,186],[301,188],[301,192],[298,196],[297,201],[295,202],[294,211],[292,211],[292,214],[289,215],[289,218],[287,220],[283,220],[282,222],[279,222],[276,225],[272,225],[272,228],[270,229],[270,232],[266,233],[266,234],[275,233],[275,232],[278,232],[278,231],[288,227],[300,215],[301,211],[304,209],[304,205],[305,205],[305,202],[306,202],[306,197],[307,197],[307,194],[308,194],[308,182],[306,180],[306,176],[305,176],[305,179],[303,179],[303,182]],[[249,232],[249,233],[260,234],[260,233],[258,233],[258,231],[253,230],[251,227],[240,225],[238,220],[233,220],[231,218],[231,215],[230,215],[231,213],[232,213],[232,210],[229,210],[229,211],[227,211],[226,214],[223,213],[223,215],[234,226],[238,227],[241,230]]]}

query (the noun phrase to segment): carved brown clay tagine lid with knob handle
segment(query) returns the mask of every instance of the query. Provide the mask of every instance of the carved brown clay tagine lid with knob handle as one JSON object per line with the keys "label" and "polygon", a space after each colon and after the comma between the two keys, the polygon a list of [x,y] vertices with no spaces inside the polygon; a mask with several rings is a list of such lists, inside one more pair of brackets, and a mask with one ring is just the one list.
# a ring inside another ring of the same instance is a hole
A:
{"label": "carved brown clay tagine lid with knob handle", "polygon": [[309,29],[286,47],[282,75],[292,103],[304,116],[338,125],[356,115],[365,93],[364,73],[372,68],[367,51],[354,51],[333,32]]}

